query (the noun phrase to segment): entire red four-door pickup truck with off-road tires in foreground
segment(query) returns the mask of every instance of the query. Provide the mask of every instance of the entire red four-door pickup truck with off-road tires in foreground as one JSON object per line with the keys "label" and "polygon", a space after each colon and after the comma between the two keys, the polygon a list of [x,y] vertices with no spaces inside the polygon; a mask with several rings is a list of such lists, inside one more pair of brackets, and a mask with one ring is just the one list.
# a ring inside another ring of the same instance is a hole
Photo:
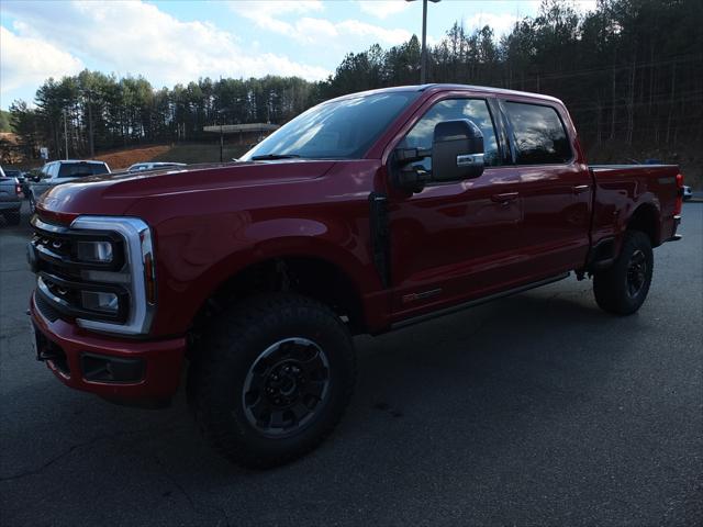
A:
{"label": "entire red four-door pickup truck with off-road tires in foreground", "polygon": [[228,459],[316,446],[353,392],[352,336],[566,278],[636,312],[678,239],[676,166],[588,166],[563,104],[470,86],[345,96],[239,160],[96,176],[38,201],[37,358],[119,402],[187,392]]}

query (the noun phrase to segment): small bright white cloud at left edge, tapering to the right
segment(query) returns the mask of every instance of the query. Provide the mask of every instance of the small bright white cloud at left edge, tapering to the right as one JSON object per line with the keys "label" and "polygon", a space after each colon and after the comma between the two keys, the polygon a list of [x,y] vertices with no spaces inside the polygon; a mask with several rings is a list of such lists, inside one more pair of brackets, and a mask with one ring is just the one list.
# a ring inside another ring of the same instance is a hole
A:
{"label": "small bright white cloud at left edge, tapering to the right", "polygon": [[40,85],[48,77],[74,75],[82,68],[82,61],[71,54],[0,26],[0,93],[23,85]]}

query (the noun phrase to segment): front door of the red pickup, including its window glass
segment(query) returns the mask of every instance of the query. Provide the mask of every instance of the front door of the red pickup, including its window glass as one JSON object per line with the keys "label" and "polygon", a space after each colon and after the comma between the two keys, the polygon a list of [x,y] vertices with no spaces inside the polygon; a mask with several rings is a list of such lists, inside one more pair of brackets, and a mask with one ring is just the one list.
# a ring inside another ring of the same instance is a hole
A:
{"label": "front door of the red pickup, including its window glass", "polygon": [[[469,119],[483,134],[483,173],[429,183],[389,201],[393,318],[420,315],[483,296],[520,280],[515,247],[523,221],[515,170],[502,166],[502,148],[487,99],[434,103],[398,145],[432,148],[434,127]],[[420,161],[432,170],[432,159]]]}

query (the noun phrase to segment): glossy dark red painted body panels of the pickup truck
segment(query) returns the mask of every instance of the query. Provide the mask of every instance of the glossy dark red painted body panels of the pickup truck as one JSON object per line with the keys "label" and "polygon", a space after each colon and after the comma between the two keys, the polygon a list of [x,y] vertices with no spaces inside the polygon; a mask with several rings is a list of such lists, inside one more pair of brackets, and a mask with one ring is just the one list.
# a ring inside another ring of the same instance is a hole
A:
{"label": "glossy dark red painted body panels of the pickup truck", "polygon": [[[538,102],[561,116],[574,158],[566,165],[486,168],[477,179],[408,194],[387,170],[395,144],[436,101],[479,97]],[[366,328],[584,268],[604,237],[616,244],[639,206],[656,213],[656,243],[676,233],[677,167],[585,165],[560,101],[469,87],[424,90],[358,160],[281,160],[193,167],[187,171],[112,175],[55,187],[38,204],[46,222],[81,214],[125,215],[152,228],[158,303],[147,340],[89,334],[71,323],[35,324],[70,357],[80,350],[136,354],[150,365],[140,385],[67,384],[136,397],[172,393],[189,327],[217,288],[244,268],[278,257],[325,260],[361,299]],[[671,179],[668,182],[668,179]],[[580,188],[580,190],[574,190]],[[389,198],[391,284],[373,264],[370,192]],[[437,292],[439,290],[439,292]],[[70,359],[77,360],[77,359]]]}

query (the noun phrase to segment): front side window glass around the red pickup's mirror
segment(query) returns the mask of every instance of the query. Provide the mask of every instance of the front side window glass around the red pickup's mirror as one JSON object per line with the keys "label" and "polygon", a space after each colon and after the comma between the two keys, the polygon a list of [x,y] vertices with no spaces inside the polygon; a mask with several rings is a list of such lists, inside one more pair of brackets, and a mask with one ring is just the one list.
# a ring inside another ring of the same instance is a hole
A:
{"label": "front side window glass around the red pickup's mirror", "polygon": [[[471,120],[483,134],[483,162],[487,167],[500,165],[498,142],[493,119],[484,99],[446,99],[427,110],[420,121],[398,145],[400,148],[432,148],[435,125],[443,121],[457,119]],[[432,170],[432,158],[416,164],[425,170]]]}

